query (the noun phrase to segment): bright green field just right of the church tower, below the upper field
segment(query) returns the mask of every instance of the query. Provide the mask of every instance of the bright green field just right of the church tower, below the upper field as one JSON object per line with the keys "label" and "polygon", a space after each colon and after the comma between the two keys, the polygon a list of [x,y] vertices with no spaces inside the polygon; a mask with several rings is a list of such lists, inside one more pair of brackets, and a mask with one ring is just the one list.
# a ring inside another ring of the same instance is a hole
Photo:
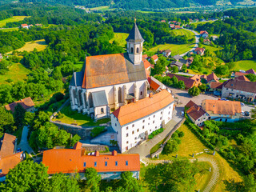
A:
{"label": "bright green field just right of the church tower, below the upper field", "polygon": [[194,43],[192,44],[162,44],[158,46],[154,46],[150,50],[145,50],[146,54],[156,53],[158,50],[171,50],[171,55],[174,56],[176,54],[184,54],[185,52],[191,50],[194,47]]}

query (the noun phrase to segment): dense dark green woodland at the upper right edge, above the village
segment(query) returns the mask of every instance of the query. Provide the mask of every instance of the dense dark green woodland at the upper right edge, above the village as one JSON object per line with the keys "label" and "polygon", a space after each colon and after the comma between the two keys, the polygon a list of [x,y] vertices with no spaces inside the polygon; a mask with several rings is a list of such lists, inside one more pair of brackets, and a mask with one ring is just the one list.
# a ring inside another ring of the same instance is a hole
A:
{"label": "dense dark green woodland at the upper right edge, above the village", "polygon": [[198,25],[196,30],[220,34],[215,43],[223,50],[218,50],[216,54],[224,62],[256,58],[256,8],[229,10],[224,14],[231,18]]}

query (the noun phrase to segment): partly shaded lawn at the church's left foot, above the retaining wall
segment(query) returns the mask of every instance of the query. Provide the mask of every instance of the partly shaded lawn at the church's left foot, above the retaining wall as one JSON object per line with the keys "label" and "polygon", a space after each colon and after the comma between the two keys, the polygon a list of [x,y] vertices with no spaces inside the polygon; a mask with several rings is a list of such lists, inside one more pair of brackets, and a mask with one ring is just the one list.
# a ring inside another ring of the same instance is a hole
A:
{"label": "partly shaded lawn at the church's left foot, above the retaining wall", "polygon": [[64,114],[63,118],[56,118],[54,121],[61,121],[63,123],[75,123],[78,126],[99,126],[99,124],[110,122],[109,118],[104,118],[101,120],[98,120],[98,122],[94,122],[93,119],[91,119],[86,114],[79,114],[78,111],[72,111],[70,108],[70,105],[65,106],[61,110],[62,114]]}

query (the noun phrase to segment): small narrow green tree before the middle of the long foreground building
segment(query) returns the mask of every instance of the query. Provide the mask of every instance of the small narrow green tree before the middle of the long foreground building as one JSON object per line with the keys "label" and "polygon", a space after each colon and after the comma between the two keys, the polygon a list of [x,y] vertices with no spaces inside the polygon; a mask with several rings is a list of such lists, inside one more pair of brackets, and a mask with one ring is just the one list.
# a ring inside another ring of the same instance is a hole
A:
{"label": "small narrow green tree before the middle of the long foreground building", "polygon": [[91,191],[98,192],[98,184],[101,181],[101,176],[98,175],[97,170],[94,168],[86,168],[85,177],[87,188],[89,188]]}

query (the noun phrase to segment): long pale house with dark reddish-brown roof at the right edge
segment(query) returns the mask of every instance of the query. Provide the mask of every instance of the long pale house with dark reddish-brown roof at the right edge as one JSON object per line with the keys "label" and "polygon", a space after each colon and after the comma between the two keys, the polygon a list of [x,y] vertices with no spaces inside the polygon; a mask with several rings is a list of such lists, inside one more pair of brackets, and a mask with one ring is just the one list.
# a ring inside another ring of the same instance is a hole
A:
{"label": "long pale house with dark reddish-brown roof at the right edge", "polygon": [[239,98],[246,102],[254,102],[256,98],[256,82],[230,79],[223,83],[222,98]]}

